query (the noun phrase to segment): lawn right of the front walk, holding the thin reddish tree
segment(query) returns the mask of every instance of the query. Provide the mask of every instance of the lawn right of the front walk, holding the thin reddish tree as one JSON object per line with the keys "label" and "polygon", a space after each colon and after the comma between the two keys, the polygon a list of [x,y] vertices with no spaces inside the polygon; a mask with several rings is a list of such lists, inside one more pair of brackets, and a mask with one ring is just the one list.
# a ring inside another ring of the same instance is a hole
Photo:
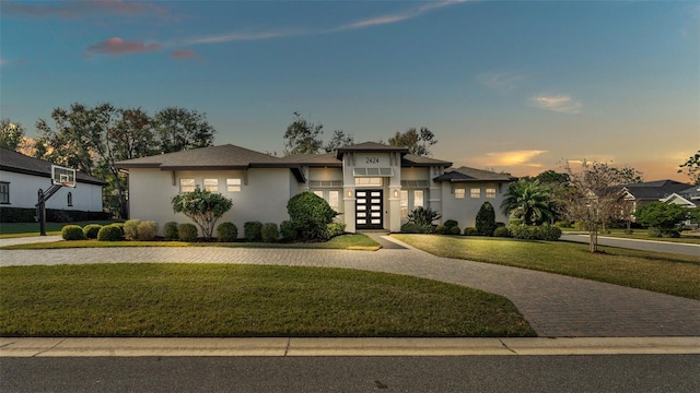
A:
{"label": "lawn right of the front walk, holding the thin reddish tree", "polygon": [[435,255],[558,273],[662,294],[700,299],[700,259],[661,252],[600,247],[567,241],[505,238],[392,235]]}

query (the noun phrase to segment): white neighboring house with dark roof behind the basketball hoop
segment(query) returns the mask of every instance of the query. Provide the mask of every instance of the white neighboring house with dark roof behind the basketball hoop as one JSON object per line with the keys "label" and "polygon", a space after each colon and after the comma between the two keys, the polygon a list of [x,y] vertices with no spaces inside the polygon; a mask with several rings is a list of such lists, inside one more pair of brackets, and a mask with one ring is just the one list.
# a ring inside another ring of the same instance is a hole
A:
{"label": "white neighboring house with dark roof behind the basketball hoop", "polygon": [[[51,163],[0,147],[0,206],[35,209],[38,190],[51,187]],[[77,187],[62,187],[46,209],[102,212],[102,188],[106,182],[75,172]]]}

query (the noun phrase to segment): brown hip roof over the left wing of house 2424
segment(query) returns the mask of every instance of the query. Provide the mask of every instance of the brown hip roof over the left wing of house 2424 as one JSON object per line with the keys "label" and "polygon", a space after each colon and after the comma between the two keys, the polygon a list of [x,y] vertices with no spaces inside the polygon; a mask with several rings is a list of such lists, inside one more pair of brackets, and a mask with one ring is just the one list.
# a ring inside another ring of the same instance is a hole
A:
{"label": "brown hip roof over the left wing of house 2424", "polygon": [[121,169],[159,168],[161,170],[290,168],[299,181],[304,181],[299,163],[232,144],[127,159],[115,163],[115,166]]}

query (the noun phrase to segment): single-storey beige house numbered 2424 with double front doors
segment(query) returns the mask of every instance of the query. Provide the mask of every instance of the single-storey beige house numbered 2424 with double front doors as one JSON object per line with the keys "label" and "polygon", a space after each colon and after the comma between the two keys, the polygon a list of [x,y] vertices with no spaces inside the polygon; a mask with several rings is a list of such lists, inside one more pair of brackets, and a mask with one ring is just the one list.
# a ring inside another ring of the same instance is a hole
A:
{"label": "single-storey beige house numbered 2424 with double front doors", "polygon": [[[452,163],[408,154],[405,147],[366,142],[329,154],[273,157],[234,145],[221,145],[116,163],[129,174],[132,218],[186,223],[172,198],[196,186],[233,200],[222,222],[238,228],[250,221],[280,224],[289,219],[287,202],[311,191],[340,213],[346,230],[399,231],[408,213],[431,207],[442,221],[474,226],[479,207],[490,202],[497,221],[511,176],[457,168]],[[438,224],[438,223],[436,223]],[[242,235],[242,234],[241,234]]]}

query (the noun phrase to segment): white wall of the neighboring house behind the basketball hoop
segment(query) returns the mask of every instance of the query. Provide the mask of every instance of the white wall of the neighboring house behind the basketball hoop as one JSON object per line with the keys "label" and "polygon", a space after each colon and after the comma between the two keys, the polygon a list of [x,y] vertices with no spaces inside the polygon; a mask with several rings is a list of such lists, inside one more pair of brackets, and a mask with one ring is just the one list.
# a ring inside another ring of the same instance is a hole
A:
{"label": "white wall of the neighboring house behind the basketball hoop", "polygon": [[[7,207],[34,209],[37,202],[37,191],[45,192],[51,188],[48,177],[0,171],[0,181],[10,183],[10,203]],[[68,205],[68,193],[71,193],[73,204]],[[75,188],[62,187],[48,201],[46,209],[73,210],[83,212],[102,212],[102,187],[79,182]]]}

